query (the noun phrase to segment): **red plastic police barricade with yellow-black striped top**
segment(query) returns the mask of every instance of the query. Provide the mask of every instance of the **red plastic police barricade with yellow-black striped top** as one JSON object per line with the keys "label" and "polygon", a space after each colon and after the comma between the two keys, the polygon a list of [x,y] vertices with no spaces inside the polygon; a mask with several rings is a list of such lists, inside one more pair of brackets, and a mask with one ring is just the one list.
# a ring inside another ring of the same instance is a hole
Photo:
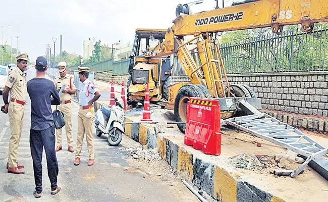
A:
{"label": "red plastic police barricade with yellow-black striped top", "polygon": [[185,144],[203,153],[221,154],[220,105],[218,100],[190,97],[187,110]]}

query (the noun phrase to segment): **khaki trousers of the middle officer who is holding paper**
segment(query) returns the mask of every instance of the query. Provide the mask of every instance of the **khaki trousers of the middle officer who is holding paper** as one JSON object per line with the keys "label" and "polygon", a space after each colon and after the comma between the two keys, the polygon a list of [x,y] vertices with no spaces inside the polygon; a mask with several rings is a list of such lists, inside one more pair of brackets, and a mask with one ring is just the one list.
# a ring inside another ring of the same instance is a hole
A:
{"label": "khaki trousers of the middle officer who is holding paper", "polygon": [[[57,109],[64,113],[67,144],[68,146],[73,146],[72,104],[61,104]],[[62,146],[62,129],[56,130],[57,146]]]}

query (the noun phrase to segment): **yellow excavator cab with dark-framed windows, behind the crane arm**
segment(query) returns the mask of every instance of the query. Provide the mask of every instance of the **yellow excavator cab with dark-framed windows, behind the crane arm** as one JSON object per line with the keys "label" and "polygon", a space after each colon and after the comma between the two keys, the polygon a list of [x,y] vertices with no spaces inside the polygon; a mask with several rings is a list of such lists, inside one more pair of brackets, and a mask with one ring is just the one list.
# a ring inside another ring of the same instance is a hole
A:
{"label": "yellow excavator cab with dark-framed windows, behind the crane arm", "polygon": [[168,87],[172,84],[170,57],[143,57],[144,53],[163,41],[166,32],[166,29],[136,29],[127,85],[129,105],[143,102],[147,83],[150,101],[168,99]]}

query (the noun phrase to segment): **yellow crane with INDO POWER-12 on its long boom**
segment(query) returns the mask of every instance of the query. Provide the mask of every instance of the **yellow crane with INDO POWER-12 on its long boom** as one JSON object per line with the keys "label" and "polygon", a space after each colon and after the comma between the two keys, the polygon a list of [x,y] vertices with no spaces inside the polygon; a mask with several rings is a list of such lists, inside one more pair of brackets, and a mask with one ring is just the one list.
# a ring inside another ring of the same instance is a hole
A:
{"label": "yellow crane with INDO POWER-12 on its long boom", "polygon": [[[187,8],[188,10],[188,8]],[[220,98],[225,117],[232,115],[231,96],[255,97],[248,86],[235,88],[231,95],[225,67],[218,48],[217,32],[271,27],[281,34],[284,25],[301,24],[302,30],[311,32],[316,22],[328,21],[328,0],[247,0],[231,7],[196,14],[181,14],[167,29],[165,40],[144,53],[144,58],[158,58],[177,54],[192,84],[176,84],[169,90],[169,102],[174,100],[177,121],[186,121],[187,102],[190,96]],[[184,36],[194,38],[183,42]],[[198,66],[186,44],[196,41],[201,65]],[[214,54],[212,54],[212,47]],[[149,80],[150,81],[150,80]],[[236,86],[234,86],[236,87]],[[179,90],[177,90],[179,88]],[[176,94],[175,94],[176,93]],[[140,98],[140,97],[139,97]],[[229,100],[229,102],[228,102]],[[229,107],[230,106],[230,107]],[[260,108],[260,107],[259,107]],[[184,131],[184,125],[180,130]]]}

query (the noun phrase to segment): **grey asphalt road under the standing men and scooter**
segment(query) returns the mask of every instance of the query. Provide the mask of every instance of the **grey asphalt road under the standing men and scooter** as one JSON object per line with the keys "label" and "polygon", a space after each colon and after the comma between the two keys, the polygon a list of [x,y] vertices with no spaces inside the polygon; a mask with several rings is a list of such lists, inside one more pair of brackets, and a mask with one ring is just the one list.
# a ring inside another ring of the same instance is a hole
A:
{"label": "grey asphalt road under the standing men and scooter", "polygon": [[[29,69],[27,80],[35,76],[35,69]],[[0,96],[0,105],[3,98]],[[77,136],[78,104],[73,102],[73,139],[74,148]],[[0,113],[0,200],[1,201],[36,201],[33,196],[35,188],[33,165],[29,145],[31,102],[27,98],[24,115],[24,125],[20,145],[18,147],[18,161],[25,165],[24,175],[7,173],[8,143],[10,125],[8,115]],[[59,163],[58,185],[62,191],[57,195],[50,195],[50,182],[47,176],[45,153],[43,153],[43,192],[42,201],[197,201],[181,181],[171,180],[171,185],[165,180],[156,180],[145,175],[144,168],[131,164],[131,157],[127,156],[123,145],[127,145],[128,138],[124,138],[118,147],[108,145],[105,136],[96,137],[95,131],[95,163],[87,166],[88,151],[86,141],[83,142],[81,164],[74,166],[74,154],[68,151],[65,132],[63,132],[63,149],[57,152]],[[140,172],[131,172],[139,170]],[[129,172],[130,171],[130,172]],[[176,185],[178,184],[178,185]],[[39,201],[41,201],[39,200]]]}

